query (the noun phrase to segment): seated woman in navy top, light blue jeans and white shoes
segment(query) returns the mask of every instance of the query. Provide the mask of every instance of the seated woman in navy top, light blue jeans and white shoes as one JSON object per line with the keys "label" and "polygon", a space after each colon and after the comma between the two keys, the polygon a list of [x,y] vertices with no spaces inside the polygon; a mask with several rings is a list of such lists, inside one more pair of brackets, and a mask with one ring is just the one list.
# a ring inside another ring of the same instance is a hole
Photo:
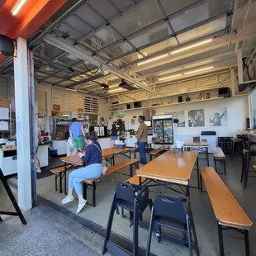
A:
{"label": "seated woman in navy top, light blue jeans and white shoes", "polygon": [[86,154],[78,152],[79,157],[87,164],[86,167],[79,168],[69,174],[69,193],[61,203],[63,205],[73,201],[73,188],[78,194],[78,214],[83,206],[86,204],[86,200],[83,198],[83,189],[81,182],[85,179],[99,178],[102,175],[102,148],[97,142],[97,134],[95,132],[90,132],[86,135],[86,140],[88,140],[88,146],[86,148]]}

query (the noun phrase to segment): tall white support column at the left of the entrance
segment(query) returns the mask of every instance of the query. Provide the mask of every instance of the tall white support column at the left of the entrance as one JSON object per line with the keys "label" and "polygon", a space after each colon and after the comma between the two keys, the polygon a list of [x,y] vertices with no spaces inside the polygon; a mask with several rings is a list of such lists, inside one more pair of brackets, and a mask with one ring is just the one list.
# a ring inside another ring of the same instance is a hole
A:
{"label": "tall white support column at the left of the entrance", "polygon": [[18,204],[24,211],[32,207],[31,189],[31,134],[29,61],[26,40],[17,39],[14,58],[14,88],[17,132]]}

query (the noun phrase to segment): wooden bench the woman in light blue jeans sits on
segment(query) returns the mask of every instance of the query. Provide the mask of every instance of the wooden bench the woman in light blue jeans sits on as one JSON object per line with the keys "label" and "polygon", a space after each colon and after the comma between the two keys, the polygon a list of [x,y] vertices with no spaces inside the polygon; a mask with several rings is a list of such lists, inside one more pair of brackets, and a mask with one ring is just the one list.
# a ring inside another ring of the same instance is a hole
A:
{"label": "wooden bench the woman in light blue jeans sits on", "polygon": [[103,174],[100,178],[92,178],[92,179],[86,179],[83,181],[83,198],[87,199],[87,189],[88,187],[92,187],[92,204],[88,202],[89,205],[95,207],[96,206],[96,187],[97,187],[97,181],[99,179],[105,178],[111,173],[116,173],[120,171],[122,168],[126,168],[130,166],[130,177],[133,175],[132,166],[135,165],[137,168],[139,168],[139,159],[129,159],[126,161],[123,161],[119,164],[112,165],[111,167],[107,168],[107,173]]}

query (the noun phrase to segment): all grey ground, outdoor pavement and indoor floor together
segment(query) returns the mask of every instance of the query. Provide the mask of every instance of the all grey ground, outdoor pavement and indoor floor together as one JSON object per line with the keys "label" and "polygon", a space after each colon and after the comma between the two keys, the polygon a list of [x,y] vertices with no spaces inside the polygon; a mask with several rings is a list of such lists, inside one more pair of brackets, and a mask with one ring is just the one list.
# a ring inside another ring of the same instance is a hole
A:
{"label": "all grey ground, outdoor pavement and indoor floor together", "polygon": [[[116,159],[116,163],[121,160],[122,158]],[[200,164],[205,164],[204,160],[200,160]],[[256,180],[249,178],[248,187],[244,190],[239,182],[240,157],[237,156],[231,162],[227,156],[226,164],[227,174],[220,174],[220,177],[255,223]],[[64,195],[55,192],[55,178],[53,176],[40,178],[37,181],[37,190],[40,195],[39,206],[34,208],[31,213],[25,213],[28,225],[21,225],[17,217],[8,217],[3,223],[0,223],[0,255],[100,255],[103,244],[102,235],[104,235],[104,228],[107,226],[116,181],[125,181],[129,178],[124,175],[129,173],[128,169],[121,173],[112,174],[98,183],[97,206],[95,208],[86,206],[79,216],[73,214],[76,211],[78,201],[73,201],[65,207],[61,206],[60,201]],[[13,181],[17,182],[15,179]],[[192,173],[192,185],[197,185],[196,172]],[[170,193],[164,187],[154,187],[150,191],[152,199],[158,192]],[[91,199],[90,193],[88,193],[88,199]],[[191,201],[201,255],[219,255],[216,218],[207,193],[191,188]],[[83,220],[96,225],[96,228],[92,228],[93,233],[84,228]],[[149,209],[145,211],[144,220],[149,220]],[[124,238],[123,241],[132,239],[129,220],[123,219],[121,216],[115,216],[112,231]],[[139,239],[142,248],[146,246],[147,236],[148,230],[140,228]],[[241,238],[241,235],[232,230],[225,231],[225,255],[244,255],[244,240]],[[253,228],[249,231],[251,255],[256,255],[255,239],[256,230]],[[188,255],[187,248],[164,239],[159,244],[154,236],[151,252],[161,256]]]}

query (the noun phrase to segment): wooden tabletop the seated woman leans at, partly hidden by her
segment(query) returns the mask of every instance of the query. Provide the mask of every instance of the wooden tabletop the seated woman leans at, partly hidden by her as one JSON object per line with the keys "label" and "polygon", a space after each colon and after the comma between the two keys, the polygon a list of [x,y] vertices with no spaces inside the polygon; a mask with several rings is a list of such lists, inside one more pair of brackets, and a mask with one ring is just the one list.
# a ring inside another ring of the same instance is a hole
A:
{"label": "wooden tabletop the seated woman leans at, partly hidden by her", "polygon": [[[121,154],[129,152],[132,149],[126,148],[126,149],[116,149],[116,148],[108,148],[108,149],[102,149],[102,156],[104,159],[107,159],[108,157],[111,157],[112,155]],[[69,164],[77,164],[77,165],[83,165],[83,161],[80,159],[80,157],[76,154],[73,156],[66,156],[64,158],[60,159],[62,162],[69,163]]]}

